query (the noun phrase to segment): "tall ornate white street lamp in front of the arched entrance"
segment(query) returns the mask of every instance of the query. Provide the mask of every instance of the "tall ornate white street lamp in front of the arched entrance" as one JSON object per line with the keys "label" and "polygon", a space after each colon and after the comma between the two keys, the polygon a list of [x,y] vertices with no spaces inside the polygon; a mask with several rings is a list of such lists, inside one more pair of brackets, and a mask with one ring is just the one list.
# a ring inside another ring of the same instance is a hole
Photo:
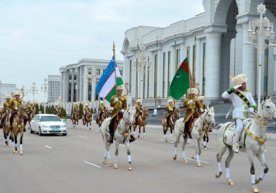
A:
{"label": "tall ornate white street lamp in front of the arched entrance", "polygon": [[248,38],[251,40],[249,44],[253,45],[257,49],[258,54],[258,110],[260,110],[261,104],[261,71],[262,71],[262,56],[264,49],[272,46],[266,44],[266,40],[274,39],[273,23],[269,21],[267,17],[264,17],[266,8],[264,4],[257,6],[257,11],[260,14],[259,19],[249,21]]}

